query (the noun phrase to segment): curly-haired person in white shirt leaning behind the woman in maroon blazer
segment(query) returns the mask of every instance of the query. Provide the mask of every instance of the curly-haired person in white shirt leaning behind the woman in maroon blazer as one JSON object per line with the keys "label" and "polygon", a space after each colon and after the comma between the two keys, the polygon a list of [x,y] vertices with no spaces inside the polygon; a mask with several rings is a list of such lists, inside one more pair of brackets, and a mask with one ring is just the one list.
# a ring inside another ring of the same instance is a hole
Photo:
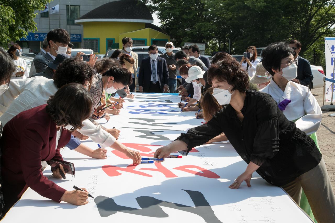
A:
{"label": "curly-haired person in white shirt leaning behind the woman in maroon blazer", "polygon": [[[0,117],[0,121],[3,125],[21,111],[45,104],[49,97],[54,95],[58,88],[63,85],[72,82],[88,85],[88,81],[91,79],[92,75],[96,74],[95,69],[90,68],[89,65],[80,61],[78,58],[69,58],[63,63],[68,63],[69,66],[67,67],[69,67],[69,69],[71,69],[71,63],[73,63],[72,69],[76,71],[70,73],[77,73],[77,75],[73,75],[72,77],[62,76],[62,72],[57,70],[54,74],[55,80],[47,79],[45,77],[35,77],[10,81],[8,90],[0,96],[0,111],[4,113]],[[74,64],[81,65],[82,68],[78,69],[78,66],[75,66]],[[16,97],[17,95],[18,97]],[[78,130],[78,132],[89,136],[95,143],[98,143],[100,147],[111,147],[121,151],[125,153],[127,157],[131,158],[134,164],[139,164],[141,162],[141,156],[138,151],[130,150],[123,144],[117,142],[112,135],[103,130],[99,125],[95,126],[88,119],[83,122],[83,125],[84,126]],[[71,128],[71,126],[66,127],[66,129]]]}

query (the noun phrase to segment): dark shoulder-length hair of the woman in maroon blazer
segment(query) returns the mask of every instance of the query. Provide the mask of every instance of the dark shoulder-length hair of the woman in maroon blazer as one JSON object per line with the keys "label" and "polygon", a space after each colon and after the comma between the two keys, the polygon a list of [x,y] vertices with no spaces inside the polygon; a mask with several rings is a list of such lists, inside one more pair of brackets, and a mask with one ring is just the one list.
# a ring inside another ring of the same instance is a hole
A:
{"label": "dark shoulder-length hair of the woman in maroon blazer", "polygon": [[47,100],[47,113],[57,126],[71,125],[70,131],[81,129],[82,122],[91,114],[90,93],[78,83],[61,87]]}

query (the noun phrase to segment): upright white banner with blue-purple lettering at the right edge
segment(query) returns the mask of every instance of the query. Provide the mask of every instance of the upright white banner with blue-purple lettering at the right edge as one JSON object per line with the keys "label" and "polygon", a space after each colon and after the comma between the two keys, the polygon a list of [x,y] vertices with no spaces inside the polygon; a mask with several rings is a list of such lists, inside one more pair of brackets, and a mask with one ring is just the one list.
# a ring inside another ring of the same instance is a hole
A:
{"label": "upright white banner with blue-purple lettering at the right edge", "polygon": [[[334,80],[335,37],[325,38],[325,53],[326,53],[326,78]],[[333,100],[335,100],[335,92],[334,89],[332,89],[332,83],[326,81],[326,89],[325,89],[326,101],[331,101],[332,92],[333,92]]]}

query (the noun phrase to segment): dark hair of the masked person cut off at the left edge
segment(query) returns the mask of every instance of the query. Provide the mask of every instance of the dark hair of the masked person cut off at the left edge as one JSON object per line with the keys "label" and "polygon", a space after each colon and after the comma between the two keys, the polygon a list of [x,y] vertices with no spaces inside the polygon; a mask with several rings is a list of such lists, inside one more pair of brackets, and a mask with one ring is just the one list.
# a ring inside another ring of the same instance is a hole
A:
{"label": "dark hair of the masked person cut off at the left edge", "polygon": [[8,86],[10,77],[15,71],[15,65],[12,58],[0,47],[0,84]]}

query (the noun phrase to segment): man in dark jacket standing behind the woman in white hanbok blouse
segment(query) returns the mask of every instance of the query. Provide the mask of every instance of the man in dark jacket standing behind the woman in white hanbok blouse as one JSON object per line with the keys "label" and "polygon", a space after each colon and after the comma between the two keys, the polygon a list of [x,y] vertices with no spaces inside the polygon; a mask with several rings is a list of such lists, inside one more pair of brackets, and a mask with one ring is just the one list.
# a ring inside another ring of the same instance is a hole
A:
{"label": "man in dark jacket standing behind the woman in white hanbok blouse", "polygon": [[[297,61],[297,66],[298,66],[298,76],[296,79],[299,80],[301,85],[309,87],[312,83],[313,80],[313,74],[312,74],[312,69],[310,62],[306,60],[305,58],[302,58],[299,56],[299,53],[301,51],[301,43],[297,40],[291,40],[289,42],[290,47],[293,49],[295,55],[294,60]],[[310,86],[312,87],[312,86]]]}

